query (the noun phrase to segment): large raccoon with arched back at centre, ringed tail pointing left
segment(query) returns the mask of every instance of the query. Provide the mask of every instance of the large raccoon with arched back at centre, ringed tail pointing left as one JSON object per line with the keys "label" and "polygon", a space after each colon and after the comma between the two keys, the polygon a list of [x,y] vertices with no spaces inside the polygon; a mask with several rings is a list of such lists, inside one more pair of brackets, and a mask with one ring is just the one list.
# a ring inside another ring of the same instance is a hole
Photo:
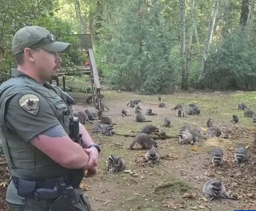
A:
{"label": "large raccoon with arched back at centre, ringed tail pointing left", "polygon": [[147,133],[139,133],[136,135],[133,142],[131,142],[129,148],[133,149],[135,144],[139,144],[142,146],[142,149],[152,149],[157,148],[157,142],[151,138]]}

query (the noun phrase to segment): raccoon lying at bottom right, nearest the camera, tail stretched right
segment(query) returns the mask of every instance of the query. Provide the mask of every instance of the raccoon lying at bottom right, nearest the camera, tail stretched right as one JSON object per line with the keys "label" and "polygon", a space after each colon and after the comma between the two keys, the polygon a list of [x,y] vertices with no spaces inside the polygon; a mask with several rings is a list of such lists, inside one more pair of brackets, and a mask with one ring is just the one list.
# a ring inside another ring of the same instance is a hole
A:
{"label": "raccoon lying at bottom right, nearest the camera, tail stretched right", "polygon": [[210,198],[210,200],[213,200],[214,198],[235,199],[228,195],[224,184],[216,179],[209,179],[204,183],[203,192],[207,198]]}

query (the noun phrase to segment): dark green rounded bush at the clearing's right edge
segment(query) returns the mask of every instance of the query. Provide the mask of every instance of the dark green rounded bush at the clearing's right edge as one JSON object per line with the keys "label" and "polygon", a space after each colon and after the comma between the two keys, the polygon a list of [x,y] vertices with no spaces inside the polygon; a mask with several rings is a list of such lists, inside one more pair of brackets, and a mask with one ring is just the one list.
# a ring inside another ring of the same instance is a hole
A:
{"label": "dark green rounded bush at the clearing's right edge", "polygon": [[255,88],[256,49],[246,30],[228,36],[209,55],[206,85],[210,88]]}

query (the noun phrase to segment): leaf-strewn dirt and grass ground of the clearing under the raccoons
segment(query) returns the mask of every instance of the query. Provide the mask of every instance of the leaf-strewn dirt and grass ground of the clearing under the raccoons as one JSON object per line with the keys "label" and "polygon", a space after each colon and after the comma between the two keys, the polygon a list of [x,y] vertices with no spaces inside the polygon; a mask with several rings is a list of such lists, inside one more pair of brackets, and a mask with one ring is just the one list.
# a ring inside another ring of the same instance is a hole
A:
{"label": "leaf-strewn dirt and grass ground of the clearing under the raccoons", "polygon": [[[84,104],[89,94],[70,93],[76,99],[74,111],[95,108]],[[112,137],[93,134],[93,125],[85,124],[94,142],[102,149],[99,158],[98,175],[83,180],[81,187],[85,190],[92,204],[93,211],[167,211],[167,210],[212,210],[233,211],[234,209],[256,209],[256,144],[254,144],[256,127],[252,118],[245,118],[243,111],[238,111],[238,103],[244,102],[251,109],[256,109],[256,92],[194,92],[163,95],[166,108],[159,108],[157,95],[137,95],[131,92],[103,92],[109,111],[104,116],[116,123],[115,132],[136,135],[149,123],[137,123],[133,108],[128,108],[131,99],[141,99],[142,112],[147,108],[157,112],[157,116],[146,116],[153,125],[160,126],[168,135],[176,135],[184,124],[199,126],[206,132],[206,119],[213,119],[215,125],[229,135],[228,139],[209,138],[199,140],[195,145],[178,144],[177,138],[157,140],[159,153],[165,159],[159,164],[149,166],[144,163],[147,150],[128,149],[133,137],[114,135]],[[201,114],[178,118],[171,108],[178,103],[199,104]],[[131,116],[122,118],[123,108],[131,111]],[[239,116],[239,123],[232,124],[233,114]],[[170,128],[163,128],[163,118],[170,117]],[[247,147],[251,154],[244,164],[234,162],[234,152],[238,147]],[[138,146],[137,146],[138,147]],[[220,147],[224,153],[222,166],[213,167],[210,152]],[[106,171],[106,159],[110,154],[122,156],[126,161],[126,170],[110,174]],[[168,156],[165,156],[168,155]],[[6,168],[0,171],[0,182],[6,182]],[[208,201],[204,198],[202,187],[209,178],[217,178],[225,183],[230,195],[239,200],[220,199]],[[1,202],[5,198],[5,188],[0,187]],[[3,206],[1,206],[3,208]],[[5,208],[0,210],[7,210]]]}

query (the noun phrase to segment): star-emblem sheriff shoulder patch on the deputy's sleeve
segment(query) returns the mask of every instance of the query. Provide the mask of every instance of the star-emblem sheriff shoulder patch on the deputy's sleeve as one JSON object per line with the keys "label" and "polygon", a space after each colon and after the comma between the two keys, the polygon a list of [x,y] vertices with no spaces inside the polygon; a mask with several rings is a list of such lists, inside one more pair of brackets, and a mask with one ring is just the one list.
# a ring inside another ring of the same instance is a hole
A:
{"label": "star-emblem sheriff shoulder patch on the deputy's sleeve", "polygon": [[19,105],[30,114],[37,115],[40,107],[40,100],[36,95],[25,94],[19,99]]}

